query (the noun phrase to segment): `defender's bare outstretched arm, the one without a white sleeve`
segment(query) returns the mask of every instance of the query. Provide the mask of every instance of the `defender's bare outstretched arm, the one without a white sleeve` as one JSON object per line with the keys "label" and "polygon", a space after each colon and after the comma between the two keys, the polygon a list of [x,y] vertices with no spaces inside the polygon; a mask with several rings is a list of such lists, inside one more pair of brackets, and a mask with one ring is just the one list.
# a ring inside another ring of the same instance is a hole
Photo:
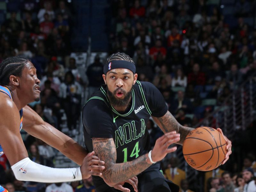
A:
{"label": "defender's bare outstretched arm, the one without a white sleeve", "polygon": [[76,141],[60,132],[44,120],[30,107],[23,108],[22,128],[28,134],[43,140],[58,149],[63,155],[81,165],[88,152]]}

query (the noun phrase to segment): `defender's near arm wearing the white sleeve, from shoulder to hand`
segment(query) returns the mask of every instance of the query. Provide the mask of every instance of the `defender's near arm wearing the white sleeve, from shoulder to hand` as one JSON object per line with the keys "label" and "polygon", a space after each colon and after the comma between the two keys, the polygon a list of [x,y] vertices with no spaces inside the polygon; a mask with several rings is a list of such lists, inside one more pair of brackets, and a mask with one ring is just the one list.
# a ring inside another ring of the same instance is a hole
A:
{"label": "defender's near arm wearing the white sleeve, from shoulder to hand", "polygon": [[[66,182],[81,180],[88,175],[87,166],[57,169],[36,164],[28,158],[27,150],[20,135],[20,113],[15,103],[7,96],[1,96],[0,108],[0,144],[11,164],[16,179],[36,182]],[[92,159],[93,153],[88,158]],[[90,159],[89,159],[90,161]],[[91,169],[104,169],[91,165]]]}

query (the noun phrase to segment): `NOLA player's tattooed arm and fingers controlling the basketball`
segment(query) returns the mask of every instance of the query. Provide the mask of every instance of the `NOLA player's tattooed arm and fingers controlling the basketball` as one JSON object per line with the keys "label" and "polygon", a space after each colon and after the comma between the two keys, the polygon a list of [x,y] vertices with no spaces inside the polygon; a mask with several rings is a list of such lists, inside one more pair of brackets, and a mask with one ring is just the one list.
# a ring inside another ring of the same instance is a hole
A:
{"label": "NOLA player's tattooed arm and fingers controlling the basketball", "polygon": [[[156,124],[160,127],[160,129],[164,132],[171,132],[171,131],[176,131],[180,133],[180,140],[177,142],[180,145],[183,145],[183,142],[188,135],[189,132],[191,132],[194,128],[192,127],[185,127],[179,124],[179,122],[174,118],[174,116],[167,111],[164,116],[162,117],[154,117],[152,116]],[[220,128],[217,129],[225,138],[227,142],[227,154],[225,156],[225,160],[223,161],[222,164],[226,163],[226,161],[229,159],[229,155],[232,153],[231,151],[231,141],[223,134]]]}

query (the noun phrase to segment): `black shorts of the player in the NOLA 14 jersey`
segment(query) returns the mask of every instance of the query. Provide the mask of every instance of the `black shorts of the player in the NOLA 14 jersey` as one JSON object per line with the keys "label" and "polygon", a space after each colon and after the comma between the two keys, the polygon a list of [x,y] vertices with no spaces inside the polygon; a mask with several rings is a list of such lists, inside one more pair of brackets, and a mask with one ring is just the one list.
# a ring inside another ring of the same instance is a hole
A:
{"label": "black shorts of the player in the NOLA 14 jersey", "polygon": [[[165,179],[162,172],[160,163],[158,162],[137,175],[139,192],[179,192],[179,186],[172,181]],[[125,183],[124,187],[129,188],[131,192],[134,192],[134,189],[130,184]],[[120,190],[101,185],[96,187],[96,192],[120,192]]]}

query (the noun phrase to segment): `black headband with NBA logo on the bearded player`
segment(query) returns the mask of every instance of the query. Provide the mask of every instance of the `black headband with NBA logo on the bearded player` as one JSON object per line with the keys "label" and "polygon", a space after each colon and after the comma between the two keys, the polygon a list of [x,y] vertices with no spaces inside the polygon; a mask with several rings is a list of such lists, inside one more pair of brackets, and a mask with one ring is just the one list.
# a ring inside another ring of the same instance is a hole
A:
{"label": "black headband with NBA logo on the bearded player", "polygon": [[104,65],[103,72],[106,75],[108,71],[112,69],[117,69],[117,68],[124,68],[124,69],[129,69],[133,72],[133,74],[136,72],[136,67],[134,63],[130,61],[124,61],[124,60],[115,60],[115,61],[110,61]]}

